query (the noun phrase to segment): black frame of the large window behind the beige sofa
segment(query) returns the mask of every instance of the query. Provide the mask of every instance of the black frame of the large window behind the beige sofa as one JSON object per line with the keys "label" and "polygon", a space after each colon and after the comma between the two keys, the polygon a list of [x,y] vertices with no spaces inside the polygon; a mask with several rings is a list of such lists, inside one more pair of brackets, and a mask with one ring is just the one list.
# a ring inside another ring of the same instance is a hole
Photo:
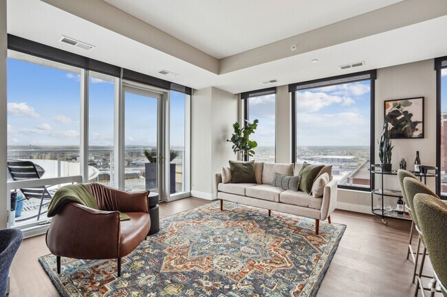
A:
{"label": "black frame of the large window behind the beige sofa", "polygon": [[[291,119],[292,119],[292,163],[296,162],[296,91],[302,91],[312,88],[322,88],[324,86],[335,86],[338,84],[348,84],[350,82],[364,82],[369,80],[370,85],[370,131],[369,131],[369,158],[370,164],[375,163],[375,79],[377,71],[362,71],[357,73],[349,73],[345,75],[331,76],[329,78],[320,78],[318,80],[308,80],[306,82],[298,82],[289,84],[289,93],[291,93]],[[356,190],[370,192],[374,189],[374,179],[369,181],[369,187],[353,187],[346,185],[337,185],[338,189]]]}

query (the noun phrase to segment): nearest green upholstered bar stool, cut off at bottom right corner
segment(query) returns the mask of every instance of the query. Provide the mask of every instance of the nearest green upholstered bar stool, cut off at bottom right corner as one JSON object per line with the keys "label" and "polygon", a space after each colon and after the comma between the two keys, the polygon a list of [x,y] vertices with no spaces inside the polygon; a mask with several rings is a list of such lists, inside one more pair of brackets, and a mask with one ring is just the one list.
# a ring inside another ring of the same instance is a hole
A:
{"label": "nearest green upholstered bar stool, cut off at bottom right corner", "polygon": [[[439,284],[442,294],[447,297],[447,204],[437,196],[417,194],[413,205],[419,228],[424,234],[424,244],[433,266],[435,283]],[[435,294],[435,283],[430,296]],[[422,287],[420,278],[418,287],[419,285]]]}

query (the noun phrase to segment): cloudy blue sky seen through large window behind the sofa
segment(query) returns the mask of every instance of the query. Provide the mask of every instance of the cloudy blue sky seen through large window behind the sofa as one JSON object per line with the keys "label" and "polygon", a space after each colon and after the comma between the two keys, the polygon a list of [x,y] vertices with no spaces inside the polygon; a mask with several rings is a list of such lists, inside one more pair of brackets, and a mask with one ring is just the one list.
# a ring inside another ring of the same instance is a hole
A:
{"label": "cloudy blue sky seen through large window behind the sofa", "polygon": [[298,147],[369,145],[369,81],[296,92]]}

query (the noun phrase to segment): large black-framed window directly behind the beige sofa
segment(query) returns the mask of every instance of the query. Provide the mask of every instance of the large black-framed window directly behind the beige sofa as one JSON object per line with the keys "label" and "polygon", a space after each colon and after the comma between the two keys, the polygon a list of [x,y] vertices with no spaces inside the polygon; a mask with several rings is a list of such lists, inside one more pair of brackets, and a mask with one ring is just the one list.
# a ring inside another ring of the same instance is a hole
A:
{"label": "large black-framed window directly behind the beige sofa", "polygon": [[370,187],[373,80],[303,83],[294,91],[298,163],[333,165],[341,187]]}

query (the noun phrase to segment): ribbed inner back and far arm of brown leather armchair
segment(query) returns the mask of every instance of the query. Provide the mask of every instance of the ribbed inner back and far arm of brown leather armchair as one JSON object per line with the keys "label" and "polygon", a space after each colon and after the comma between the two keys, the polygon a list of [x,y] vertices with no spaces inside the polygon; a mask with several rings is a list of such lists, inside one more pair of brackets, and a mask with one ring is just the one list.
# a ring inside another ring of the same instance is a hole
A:
{"label": "ribbed inner back and far arm of brown leather armchair", "polygon": [[127,192],[98,183],[86,184],[98,201],[103,211],[120,211],[121,213],[149,213],[147,196],[149,191]]}

